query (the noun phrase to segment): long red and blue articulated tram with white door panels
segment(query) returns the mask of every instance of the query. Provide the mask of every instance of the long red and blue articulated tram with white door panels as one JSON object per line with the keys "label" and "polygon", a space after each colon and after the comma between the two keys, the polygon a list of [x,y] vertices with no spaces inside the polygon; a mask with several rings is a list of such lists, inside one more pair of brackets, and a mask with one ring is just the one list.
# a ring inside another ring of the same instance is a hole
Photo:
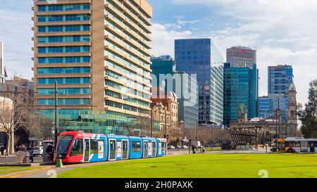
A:
{"label": "long red and blue articulated tram with white door panels", "polygon": [[63,132],[58,136],[55,160],[75,164],[163,157],[167,140],[161,138]]}

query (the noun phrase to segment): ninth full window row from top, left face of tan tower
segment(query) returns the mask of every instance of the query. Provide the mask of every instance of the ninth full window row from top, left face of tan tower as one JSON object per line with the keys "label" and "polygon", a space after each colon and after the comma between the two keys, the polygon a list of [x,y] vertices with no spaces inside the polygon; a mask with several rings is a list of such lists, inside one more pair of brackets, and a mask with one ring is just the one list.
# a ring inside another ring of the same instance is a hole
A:
{"label": "ninth full window row from top, left face of tan tower", "polygon": [[[38,89],[39,95],[53,95],[55,89]],[[58,95],[89,95],[91,90],[89,88],[66,88],[57,89]]]}

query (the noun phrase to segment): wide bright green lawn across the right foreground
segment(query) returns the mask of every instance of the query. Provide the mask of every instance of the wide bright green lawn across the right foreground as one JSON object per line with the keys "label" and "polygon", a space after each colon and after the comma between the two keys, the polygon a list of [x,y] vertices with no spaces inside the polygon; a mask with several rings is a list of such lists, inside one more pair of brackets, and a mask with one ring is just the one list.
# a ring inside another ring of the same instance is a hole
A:
{"label": "wide bright green lawn across the right foreground", "polygon": [[268,177],[317,177],[316,159],[313,154],[178,155],[82,167],[58,177],[259,178],[262,169]]}

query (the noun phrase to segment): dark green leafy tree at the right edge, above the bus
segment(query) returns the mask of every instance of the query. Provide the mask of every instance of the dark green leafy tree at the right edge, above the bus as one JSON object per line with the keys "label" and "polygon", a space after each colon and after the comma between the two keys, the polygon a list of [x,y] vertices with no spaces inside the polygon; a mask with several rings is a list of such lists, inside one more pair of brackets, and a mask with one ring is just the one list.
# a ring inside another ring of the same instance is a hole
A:
{"label": "dark green leafy tree at the right edge, above the bus", "polygon": [[298,116],[302,121],[301,132],[306,138],[317,137],[317,79],[309,84],[309,101],[305,108],[299,103]]}

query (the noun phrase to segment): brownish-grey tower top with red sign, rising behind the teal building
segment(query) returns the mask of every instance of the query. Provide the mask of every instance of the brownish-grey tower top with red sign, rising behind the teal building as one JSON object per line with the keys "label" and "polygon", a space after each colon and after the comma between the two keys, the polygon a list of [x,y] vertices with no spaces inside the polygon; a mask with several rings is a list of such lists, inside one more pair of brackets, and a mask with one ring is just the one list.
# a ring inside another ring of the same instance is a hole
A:
{"label": "brownish-grey tower top with red sign, rising behind the teal building", "polygon": [[227,49],[227,63],[232,68],[253,68],[256,63],[256,50],[245,46],[232,46]]}

